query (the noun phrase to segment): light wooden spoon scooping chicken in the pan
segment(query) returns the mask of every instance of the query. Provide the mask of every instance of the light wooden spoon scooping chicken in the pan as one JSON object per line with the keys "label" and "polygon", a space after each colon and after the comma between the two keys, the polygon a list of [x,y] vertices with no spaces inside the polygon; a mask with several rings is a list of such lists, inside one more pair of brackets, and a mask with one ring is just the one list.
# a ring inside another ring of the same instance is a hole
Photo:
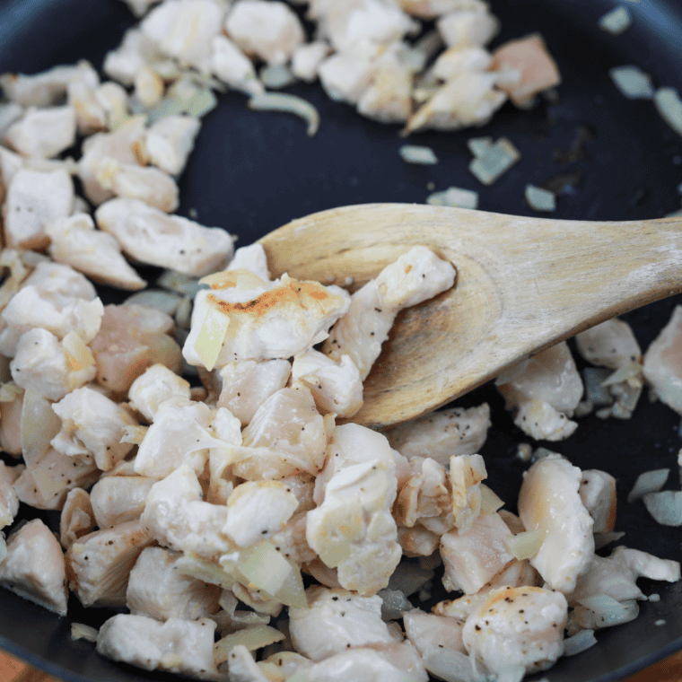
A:
{"label": "light wooden spoon scooping chicken in the pan", "polygon": [[[398,316],[352,421],[397,424],[606,319],[682,291],[682,219],[593,223],[430,205],[345,206],[260,242],[273,275],[353,288],[421,244],[450,291]],[[350,278],[350,279],[349,279]]]}

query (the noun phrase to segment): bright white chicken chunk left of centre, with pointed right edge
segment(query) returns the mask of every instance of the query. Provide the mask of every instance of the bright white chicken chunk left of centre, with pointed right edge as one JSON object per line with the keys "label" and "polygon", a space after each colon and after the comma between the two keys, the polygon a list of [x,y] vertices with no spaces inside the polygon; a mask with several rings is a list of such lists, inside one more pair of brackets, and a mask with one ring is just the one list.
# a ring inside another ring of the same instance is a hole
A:
{"label": "bright white chicken chunk left of centre, with pointed right edge", "polygon": [[141,476],[164,478],[181,465],[187,465],[201,476],[208,449],[224,445],[209,430],[213,417],[205,403],[184,398],[162,403],[137,450],[136,472]]}

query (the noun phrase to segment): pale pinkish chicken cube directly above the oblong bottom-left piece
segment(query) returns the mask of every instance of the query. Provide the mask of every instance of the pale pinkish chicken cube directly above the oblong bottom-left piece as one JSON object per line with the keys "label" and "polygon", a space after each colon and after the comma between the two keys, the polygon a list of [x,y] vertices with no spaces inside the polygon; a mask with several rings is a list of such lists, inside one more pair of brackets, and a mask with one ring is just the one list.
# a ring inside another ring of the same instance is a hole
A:
{"label": "pale pinkish chicken cube directly above the oblong bottom-left piece", "polygon": [[156,620],[197,620],[218,610],[217,585],[177,571],[179,555],[162,547],[146,547],[128,578],[126,600],[130,613]]}

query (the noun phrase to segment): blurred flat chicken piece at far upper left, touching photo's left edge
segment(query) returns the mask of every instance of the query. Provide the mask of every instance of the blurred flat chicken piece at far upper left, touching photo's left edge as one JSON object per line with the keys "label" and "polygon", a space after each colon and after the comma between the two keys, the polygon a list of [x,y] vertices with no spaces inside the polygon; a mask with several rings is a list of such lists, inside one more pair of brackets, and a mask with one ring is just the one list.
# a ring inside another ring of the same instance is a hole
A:
{"label": "blurred flat chicken piece at far upper left, touching photo's left edge", "polygon": [[4,74],[0,87],[5,97],[24,107],[49,107],[66,95],[66,88],[73,81],[83,81],[96,86],[100,82],[97,72],[86,61],[76,65],[54,66],[39,74]]}

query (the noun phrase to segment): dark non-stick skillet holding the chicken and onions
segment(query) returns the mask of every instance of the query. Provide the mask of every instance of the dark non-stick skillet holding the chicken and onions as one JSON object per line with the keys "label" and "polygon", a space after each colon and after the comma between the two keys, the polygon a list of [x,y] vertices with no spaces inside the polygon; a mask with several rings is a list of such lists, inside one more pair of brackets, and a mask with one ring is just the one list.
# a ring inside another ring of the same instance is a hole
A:
{"label": "dark non-stick skillet holding the chicken and onions", "polygon": [[[624,4],[633,26],[612,36],[597,27],[599,17],[615,6],[610,0],[493,3],[503,26],[493,47],[531,31],[544,35],[564,77],[558,100],[523,112],[505,105],[481,130],[424,133],[410,140],[434,149],[440,160],[435,166],[401,162],[398,148],[404,141],[398,127],[361,118],[354,109],[329,101],[317,84],[289,89],[319,109],[322,123],[313,138],[305,135],[302,121],[249,111],[243,96],[227,93],[204,119],[180,180],[179,213],[196,211],[200,223],[237,233],[238,245],[245,245],[294,218],[337,205],[424,202],[430,183],[438,190],[453,185],[476,189],[481,209],[509,214],[531,214],[523,189],[528,182],[547,181],[547,186],[561,188],[555,213],[560,218],[636,220],[677,210],[682,138],[662,122],[650,101],[625,100],[610,82],[608,69],[634,64],[651,73],[656,86],[682,85],[682,7],[676,0]],[[0,73],[35,73],[83,57],[100,66],[106,51],[133,23],[116,0],[0,0]],[[522,153],[520,163],[490,188],[479,185],[467,170],[466,141],[482,135],[509,136]],[[150,279],[157,274],[144,269]],[[124,298],[106,287],[101,295],[105,302]],[[643,349],[680,302],[677,297],[625,316]],[[529,439],[513,426],[491,386],[457,404],[483,401],[493,410],[494,426],[481,450],[489,483],[507,501],[505,508],[515,511],[521,472],[528,466],[516,458],[516,446]],[[679,488],[678,415],[644,395],[632,420],[602,421],[590,415],[567,441],[545,444],[581,468],[603,468],[616,476],[616,530],[626,533],[620,544],[682,559],[682,532],[657,525],[642,503],[625,502],[635,478],[648,469],[671,468],[666,487]],[[57,514],[39,515],[53,529],[58,527]],[[599,646],[560,660],[538,677],[606,682],[682,649],[682,586],[642,583],[647,594],[660,594],[660,602],[642,602],[635,621],[599,633]],[[83,609],[72,596],[69,616],[59,618],[0,590],[0,647],[66,682],[178,679],[115,664],[96,654],[92,644],[71,641],[72,622],[99,626],[109,615]],[[660,620],[665,625],[655,625]]]}

